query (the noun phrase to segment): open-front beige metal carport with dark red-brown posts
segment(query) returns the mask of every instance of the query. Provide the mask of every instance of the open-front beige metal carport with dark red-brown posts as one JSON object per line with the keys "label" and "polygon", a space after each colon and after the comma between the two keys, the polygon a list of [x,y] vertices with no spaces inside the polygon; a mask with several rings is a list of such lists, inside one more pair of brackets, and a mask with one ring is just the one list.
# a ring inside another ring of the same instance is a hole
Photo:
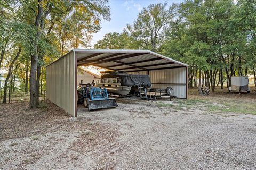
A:
{"label": "open-front beige metal carport with dark red-brown posts", "polygon": [[172,86],[188,98],[188,65],[150,50],[73,49],[46,66],[46,97],[77,116],[77,66],[94,65],[130,74],[148,74],[153,88]]}

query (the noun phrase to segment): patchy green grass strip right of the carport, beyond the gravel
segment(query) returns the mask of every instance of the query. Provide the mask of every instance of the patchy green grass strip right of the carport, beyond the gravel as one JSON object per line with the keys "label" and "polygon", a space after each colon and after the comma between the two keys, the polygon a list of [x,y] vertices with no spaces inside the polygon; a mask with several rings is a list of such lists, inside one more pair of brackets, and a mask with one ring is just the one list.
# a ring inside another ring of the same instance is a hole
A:
{"label": "patchy green grass strip right of the carport, beyond the gravel", "polygon": [[188,100],[175,98],[171,102],[158,101],[157,107],[169,107],[187,112],[190,109],[198,109],[205,113],[223,115],[227,113],[256,115],[255,96],[254,91],[250,94],[229,94],[227,88],[220,89],[220,87],[216,87],[215,92],[211,92],[210,95],[201,96],[198,94],[198,88],[190,88]]}

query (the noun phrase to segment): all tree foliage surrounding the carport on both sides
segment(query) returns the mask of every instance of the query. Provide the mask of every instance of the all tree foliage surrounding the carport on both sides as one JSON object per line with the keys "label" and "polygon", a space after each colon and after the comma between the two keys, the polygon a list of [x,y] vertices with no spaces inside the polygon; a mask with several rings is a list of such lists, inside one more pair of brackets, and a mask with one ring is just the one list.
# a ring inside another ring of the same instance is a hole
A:
{"label": "all tree foliage surrounding the carport on both sides", "polygon": [[[122,33],[107,33],[94,48],[153,50],[187,63],[190,87],[214,91],[219,84],[229,86],[234,75],[256,79],[255,6],[253,0],[151,4]],[[103,0],[3,0],[0,13],[5,92],[21,80],[31,108],[45,87],[44,66],[72,48],[90,48],[101,21],[110,20]]]}

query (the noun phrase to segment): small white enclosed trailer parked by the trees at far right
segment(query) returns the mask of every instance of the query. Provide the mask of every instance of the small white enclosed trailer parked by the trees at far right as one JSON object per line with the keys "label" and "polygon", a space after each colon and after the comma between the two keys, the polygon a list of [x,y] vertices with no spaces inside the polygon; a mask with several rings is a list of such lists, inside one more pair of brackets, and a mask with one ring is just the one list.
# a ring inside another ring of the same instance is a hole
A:
{"label": "small white enclosed trailer parked by the trees at far right", "polygon": [[239,90],[250,92],[249,79],[247,76],[231,76],[231,86],[228,87],[229,92]]}

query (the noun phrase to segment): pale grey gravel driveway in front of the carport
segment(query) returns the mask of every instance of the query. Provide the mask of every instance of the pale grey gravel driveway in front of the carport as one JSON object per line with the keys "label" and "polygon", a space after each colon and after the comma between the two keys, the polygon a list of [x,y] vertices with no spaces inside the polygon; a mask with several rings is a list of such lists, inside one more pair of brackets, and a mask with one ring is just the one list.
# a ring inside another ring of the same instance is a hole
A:
{"label": "pale grey gravel driveway in front of the carport", "polygon": [[256,116],[173,111],[148,104],[83,112],[94,122],[117,124],[118,145],[96,167],[115,169],[255,169]]}

